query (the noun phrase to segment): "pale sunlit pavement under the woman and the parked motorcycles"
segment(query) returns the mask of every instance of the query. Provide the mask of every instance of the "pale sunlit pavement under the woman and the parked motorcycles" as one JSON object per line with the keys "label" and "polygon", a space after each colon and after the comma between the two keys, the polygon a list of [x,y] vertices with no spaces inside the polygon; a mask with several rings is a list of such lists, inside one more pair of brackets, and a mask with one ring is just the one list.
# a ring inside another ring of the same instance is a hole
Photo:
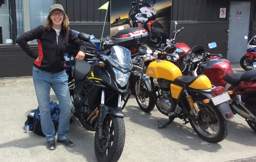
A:
{"label": "pale sunlit pavement under the woman and the parked motorcycles", "polygon": [[[239,65],[232,65],[242,72]],[[53,91],[51,100],[57,101]],[[0,79],[0,162],[96,162],[94,132],[74,122],[69,139],[74,147],[56,142],[56,150],[47,150],[44,137],[25,133],[24,115],[37,108],[32,77]],[[168,117],[155,108],[142,112],[132,96],[123,110],[125,146],[119,162],[256,162],[256,132],[239,115],[229,121],[229,134],[220,143],[198,137],[189,124],[175,119],[164,129]]]}

